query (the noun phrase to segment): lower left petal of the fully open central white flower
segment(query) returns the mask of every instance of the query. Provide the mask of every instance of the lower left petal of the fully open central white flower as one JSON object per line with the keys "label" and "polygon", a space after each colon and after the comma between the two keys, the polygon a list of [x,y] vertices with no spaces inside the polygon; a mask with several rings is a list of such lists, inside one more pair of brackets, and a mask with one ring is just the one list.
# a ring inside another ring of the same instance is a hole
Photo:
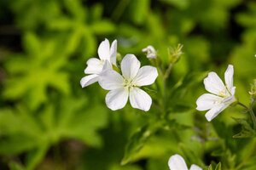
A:
{"label": "lower left petal of the fully open central white flower", "polygon": [[116,111],[125,107],[128,100],[128,90],[125,88],[118,88],[111,90],[106,95],[106,104],[109,109]]}

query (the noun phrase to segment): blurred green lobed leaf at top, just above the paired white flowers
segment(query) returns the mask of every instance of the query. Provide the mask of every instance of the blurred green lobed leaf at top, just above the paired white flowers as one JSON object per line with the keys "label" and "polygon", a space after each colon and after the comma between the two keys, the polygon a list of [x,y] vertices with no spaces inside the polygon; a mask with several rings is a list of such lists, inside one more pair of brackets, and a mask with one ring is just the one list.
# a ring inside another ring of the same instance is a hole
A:
{"label": "blurred green lobed leaf at top, just above the paired white flowers", "polygon": [[83,56],[95,54],[96,36],[106,36],[115,30],[110,20],[102,19],[102,9],[98,6],[89,11],[79,0],[65,0],[63,8],[67,9],[67,14],[57,15],[45,22],[49,31],[61,31],[65,35],[67,48],[64,50],[67,54],[73,54],[76,50]]}

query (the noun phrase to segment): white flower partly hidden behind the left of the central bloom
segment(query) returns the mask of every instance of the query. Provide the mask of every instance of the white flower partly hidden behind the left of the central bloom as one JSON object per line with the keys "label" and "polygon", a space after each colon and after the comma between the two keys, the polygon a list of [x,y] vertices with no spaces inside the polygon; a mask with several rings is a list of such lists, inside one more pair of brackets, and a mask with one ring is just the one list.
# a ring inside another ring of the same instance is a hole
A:
{"label": "white flower partly hidden behind the left of the central bloom", "polygon": [[116,49],[117,49],[117,41],[114,40],[109,45],[109,41],[106,38],[101,42],[98,48],[98,55],[100,59],[91,58],[87,61],[87,67],[84,70],[85,74],[89,74],[89,76],[85,76],[81,79],[80,84],[82,88],[89,86],[94,82],[98,82],[99,74],[103,70],[103,65],[108,66],[108,68],[112,68],[112,64],[116,65]]}

